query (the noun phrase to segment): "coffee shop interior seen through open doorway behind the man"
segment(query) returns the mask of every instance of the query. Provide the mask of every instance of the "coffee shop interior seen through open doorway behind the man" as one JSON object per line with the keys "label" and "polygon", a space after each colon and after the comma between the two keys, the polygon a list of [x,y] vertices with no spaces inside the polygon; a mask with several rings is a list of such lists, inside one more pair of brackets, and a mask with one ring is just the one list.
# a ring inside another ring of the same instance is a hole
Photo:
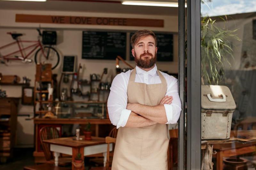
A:
{"label": "coffee shop interior seen through open doorway behind the man", "polygon": [[111,82],[135,67],[130,39],[140,29],[158,35],[158,69],[178,76],[178,8],[0,1],[0,13],[0,169],[111,166]]}

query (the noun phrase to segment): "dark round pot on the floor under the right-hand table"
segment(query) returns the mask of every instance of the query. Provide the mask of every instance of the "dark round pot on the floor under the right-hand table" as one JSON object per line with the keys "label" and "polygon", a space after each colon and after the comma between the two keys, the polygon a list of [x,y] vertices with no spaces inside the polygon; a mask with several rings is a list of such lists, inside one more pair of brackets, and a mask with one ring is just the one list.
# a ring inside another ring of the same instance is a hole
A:
{"label": "dark round pot on the floor under the right-hand table", "polygon": [[226,158],[223,170],[247,170],[247,160],[243,158]]}

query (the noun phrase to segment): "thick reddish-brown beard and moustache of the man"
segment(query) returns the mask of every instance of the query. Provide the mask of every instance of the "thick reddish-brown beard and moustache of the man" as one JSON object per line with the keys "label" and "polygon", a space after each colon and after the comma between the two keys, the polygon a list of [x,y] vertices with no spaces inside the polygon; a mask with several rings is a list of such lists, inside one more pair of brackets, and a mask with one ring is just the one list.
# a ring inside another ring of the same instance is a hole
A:
{"label": "thick reddish-brown beard and moustache of the man", "polygon": [[[151,68],[156,63],[156,53],[155,53],[155,56],[153,56],[153,54],[149,52],[143,53],[140,55],[139,58],[137,57],[135,52],[134,52],[134,55],[135,55],[134,58],[135,58],[136,65],[140,68],[148,69],[148,68]],[[151,56],[151,58],[147,57],[142,59],[142,57],[145,55]]]}

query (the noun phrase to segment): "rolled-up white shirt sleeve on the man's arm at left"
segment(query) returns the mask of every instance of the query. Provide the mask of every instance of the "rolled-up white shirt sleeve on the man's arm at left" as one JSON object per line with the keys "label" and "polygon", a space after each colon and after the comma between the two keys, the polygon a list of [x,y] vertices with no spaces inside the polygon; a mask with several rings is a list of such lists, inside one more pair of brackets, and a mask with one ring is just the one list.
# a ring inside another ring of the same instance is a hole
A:
{"label": "rolled-up white shirt sleeve on the man's arm at left", "polygon": [[131,114],[131,110],[127,110],[127,85],[123,73],[116,75],[108,96],[108,115],[111,123],[119,127],[124,127]]}

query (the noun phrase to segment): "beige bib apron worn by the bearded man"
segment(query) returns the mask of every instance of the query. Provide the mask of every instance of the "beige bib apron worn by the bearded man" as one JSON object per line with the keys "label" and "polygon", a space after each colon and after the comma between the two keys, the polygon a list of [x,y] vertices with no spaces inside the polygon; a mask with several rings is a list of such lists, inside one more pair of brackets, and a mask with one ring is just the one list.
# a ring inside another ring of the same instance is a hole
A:
{"label": "beige bib apron worn by the bearded man", "polygon": [[[164,76],[157,70],[160,84],[135,83],[136,68],[132,71],[128,87],[128,103],[159,105],[167,91]],[[118,129],[112,170],[167,170],[169,139],[166,124],[142,128]]]}

